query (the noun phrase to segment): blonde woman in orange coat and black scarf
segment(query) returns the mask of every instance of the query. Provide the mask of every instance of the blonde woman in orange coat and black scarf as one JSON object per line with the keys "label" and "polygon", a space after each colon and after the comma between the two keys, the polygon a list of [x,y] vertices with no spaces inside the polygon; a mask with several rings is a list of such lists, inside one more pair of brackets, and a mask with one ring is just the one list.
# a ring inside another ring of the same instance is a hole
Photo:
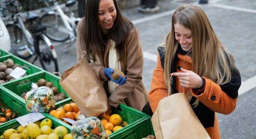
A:
{"label": "blonde woman in orange coat and black scarf", "polygon": [[[225,48],[204,13],[196,5],[179,6],[165,47],[158,47],[153,71],[148,114],[161,99],[183,92],[212,139],[220,138],[215,112],[230,114],[236,107],[241,77],[231,53]],[[170,74],[173,75],[169,84]],[[193,130],[193,129],[191,129]]]}

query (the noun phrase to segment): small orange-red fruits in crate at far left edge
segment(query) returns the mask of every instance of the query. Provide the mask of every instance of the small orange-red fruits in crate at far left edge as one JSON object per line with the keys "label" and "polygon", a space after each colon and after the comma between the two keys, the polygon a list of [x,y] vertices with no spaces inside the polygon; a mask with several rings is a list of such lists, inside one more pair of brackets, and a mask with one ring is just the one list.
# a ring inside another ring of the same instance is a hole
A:
{"label": "small orange-red fruits in crate at far left edge", "polygon": [[3,124],[9,120],[15,119],[19,116],[19,113],[12,111],[9,107],[5,107],[0,98],[0,124]]}

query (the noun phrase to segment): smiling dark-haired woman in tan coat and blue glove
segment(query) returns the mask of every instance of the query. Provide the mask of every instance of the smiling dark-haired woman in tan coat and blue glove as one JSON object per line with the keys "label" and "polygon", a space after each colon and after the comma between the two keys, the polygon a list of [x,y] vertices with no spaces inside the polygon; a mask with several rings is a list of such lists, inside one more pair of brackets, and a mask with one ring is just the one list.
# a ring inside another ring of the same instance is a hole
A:
{"label": "smiling dark-haired woman in tan coat and blue glove", "polygon": [[[125,18],[115,0],[87,0],[85,17],[77,27],[77,61],[86,59],[103,82],[108,105],[120,103],[141,111],[148,102],[142,81],[143,51],[138,30]],[[125,74],[111,77],[117,69]]]}

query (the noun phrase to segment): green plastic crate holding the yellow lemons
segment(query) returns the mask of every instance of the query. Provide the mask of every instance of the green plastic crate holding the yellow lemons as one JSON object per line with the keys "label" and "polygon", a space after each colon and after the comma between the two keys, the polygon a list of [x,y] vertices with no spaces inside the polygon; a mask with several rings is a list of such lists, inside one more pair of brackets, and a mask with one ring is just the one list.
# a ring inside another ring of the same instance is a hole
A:
{"label": "green plastic crate holding the yellow lemons", "polygon": [[[52,129],[56,128],[57,126],[64,126],[65,128],[67,128],[68,133],[71,133],[71,129],[70,126],[66,123],[60,123],[60,121],[58,119],[56,119],[55,117],[49,115],[48,113],[44,113],[41,112],[46,118],[52,120]],[[43,119],[42,119],[43,120]],[[42,121],[41,120],[41,121]],[[67,126],[68,125],[68,126]],[[2,135],[4,133],[5,130],[10,129],[10,128],[14,128],[17,129],[20,126],[20,123],[17,120],[13,120],[11,123],[8,123],[5,126],[1,126],[0,127],[0,135]]]}

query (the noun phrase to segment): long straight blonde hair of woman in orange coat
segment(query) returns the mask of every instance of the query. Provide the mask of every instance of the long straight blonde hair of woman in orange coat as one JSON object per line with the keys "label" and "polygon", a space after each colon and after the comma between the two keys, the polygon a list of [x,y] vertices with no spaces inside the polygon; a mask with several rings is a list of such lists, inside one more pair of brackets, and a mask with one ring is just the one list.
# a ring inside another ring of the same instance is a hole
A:
{"label": "long straight blonde hair of woman in orange coat", "polygon": [[[231,70],[236,69],[235,61],[231,53],[225,48],[204,13],[203,9],[196,5],[182,5],[177,8],[172,16],[172,27],[165,42],[164,57],[164,81],[166,86],[171,86],[170,79],[171,64],[177,51],[179,42],[175,39],[174,24],[179,23],[191,30],[192,33],[192,71],[211,79],[218,85],[225,84],[231,80]],[[172,90],[169,90],[172,94]],[[190,102],[192,94],[186,93]],[[193,107],[198,106],[196,99]]]}

